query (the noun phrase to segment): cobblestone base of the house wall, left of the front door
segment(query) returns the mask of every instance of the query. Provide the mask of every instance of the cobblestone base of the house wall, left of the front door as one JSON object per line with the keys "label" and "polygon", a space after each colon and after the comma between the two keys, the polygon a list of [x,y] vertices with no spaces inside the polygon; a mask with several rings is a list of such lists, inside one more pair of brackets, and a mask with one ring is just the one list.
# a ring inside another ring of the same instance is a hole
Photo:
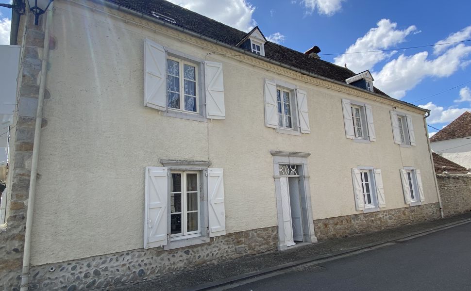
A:
{"label": "cobblestone base of the house wall, left of the front door", "polygon": [[[204,244],[164,251],[137,249],[31,268],[30,290],[109,290],[152,280],[160,275],[188,271],[241,256],[276,250],[277,227],[253,229],[211,238]],[[3,278],[1,279],[3,281]],[[5,290],[16,290],[19,277]]]}

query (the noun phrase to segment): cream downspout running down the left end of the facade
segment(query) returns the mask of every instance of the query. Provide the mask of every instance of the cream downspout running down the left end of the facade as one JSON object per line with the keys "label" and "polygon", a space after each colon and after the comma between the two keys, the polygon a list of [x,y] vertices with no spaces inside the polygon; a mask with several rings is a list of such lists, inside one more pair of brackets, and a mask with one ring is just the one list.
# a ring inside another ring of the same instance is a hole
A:
{"label": "cream downspout running down the left end of the facade", "polygon": [[23,252],[23,269],[21,273],[21,291],[27,291],[30,286],[30,255],[31,255],[31,228],[33,226],[33,212],[34,212],[34,195],[36,193],[36,177],[37,177],[37,164],[39,160],[39,143],[41,141],[41,126],[43,117],[43,103],[44,91],[46,89],[46,75],[48,71],[49,59],[49,38],[50,38],[50,23],[52,21],[52,7],[54,2],[51,2],[49,9],[46,13],[46,27],[44,31],[44,45],[43,56],[41,64],[41,75],[39,83],[39,94],[37,100],[36,110],[36,127],[34,128],[34,144],[33,156],[31,158],[31,178],[30,190],[28,193],[28,210],[26,212],[26,230],[25,230],[25,245]]}

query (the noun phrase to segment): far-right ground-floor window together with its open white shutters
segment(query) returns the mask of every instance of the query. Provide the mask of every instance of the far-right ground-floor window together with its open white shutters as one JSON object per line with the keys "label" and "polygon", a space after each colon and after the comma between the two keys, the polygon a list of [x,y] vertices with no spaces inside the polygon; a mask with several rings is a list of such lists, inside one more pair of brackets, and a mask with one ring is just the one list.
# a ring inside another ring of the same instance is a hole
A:
{"label": "far-right ground-floor window together with its open white shutters", "polygon": [[424,202],[421,171],[414,167],[404,167],[400,172],[405,203],[416,205]]}

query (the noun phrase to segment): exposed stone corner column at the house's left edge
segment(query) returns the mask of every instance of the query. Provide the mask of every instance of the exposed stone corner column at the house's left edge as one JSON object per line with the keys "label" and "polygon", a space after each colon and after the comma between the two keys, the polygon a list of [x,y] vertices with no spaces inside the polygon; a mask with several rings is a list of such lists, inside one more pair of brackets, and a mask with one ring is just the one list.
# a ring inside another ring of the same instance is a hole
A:
{"label": "exposed stone corner column at the house's left edge", "polygon": [[[26,208],[30,186],[31,156],[33,153],[34,127],[41,72],[41,53],[44,43],[42,21],[34,25],[34,17],[27,18],[27,32],[21,55],[20,93],[18,111],[12,126],[10,164],[6,197],[6,223],[0,226],[0,290],[19,290],[19,275],[23,262]],[[24,18],[24,19],[26,19]],[[40,18],[42,19],[42,17]],[[52,41],[51,49],[54,49]],[[45,97],[49,97],[46,91]],[[47,121],[43,119],[43,127]],[[16,282],[11,285],[11,282]],[[6,288],[9,286],[9,288]],[[3,289],[1,289],[3,287]]]}

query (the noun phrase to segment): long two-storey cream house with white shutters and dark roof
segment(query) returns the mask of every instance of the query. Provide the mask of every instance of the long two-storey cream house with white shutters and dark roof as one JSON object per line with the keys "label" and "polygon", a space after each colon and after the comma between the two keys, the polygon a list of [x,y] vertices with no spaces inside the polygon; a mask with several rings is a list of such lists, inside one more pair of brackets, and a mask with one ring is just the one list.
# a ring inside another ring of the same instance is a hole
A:
{"label": "long two-storey cream house with white shutters and dark roof", "polygon": [[5,289],[107,289],[440,217],[428,111],[319,47],[163,0],[15,17]]}

